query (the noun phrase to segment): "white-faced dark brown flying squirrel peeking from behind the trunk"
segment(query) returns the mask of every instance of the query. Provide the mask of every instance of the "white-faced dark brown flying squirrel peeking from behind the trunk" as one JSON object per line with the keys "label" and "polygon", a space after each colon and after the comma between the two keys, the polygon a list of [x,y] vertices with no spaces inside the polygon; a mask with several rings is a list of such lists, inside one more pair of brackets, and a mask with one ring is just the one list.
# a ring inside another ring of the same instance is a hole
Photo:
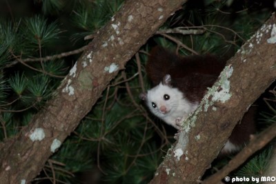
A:
{"label": "white-faced dark brown flying squirrel peeking from behind the trunk", "polygon": [[[210,54],[181,57],[156,46],[146,64],[146,72],[155,87],[139,97],[146,102],[152,114],[181,130],[182,121],[197,109],[207,88],[217,81],[225,65],[226,61]],[[239,151],[254,132],[255,110],[249,108],[221,153]]]}

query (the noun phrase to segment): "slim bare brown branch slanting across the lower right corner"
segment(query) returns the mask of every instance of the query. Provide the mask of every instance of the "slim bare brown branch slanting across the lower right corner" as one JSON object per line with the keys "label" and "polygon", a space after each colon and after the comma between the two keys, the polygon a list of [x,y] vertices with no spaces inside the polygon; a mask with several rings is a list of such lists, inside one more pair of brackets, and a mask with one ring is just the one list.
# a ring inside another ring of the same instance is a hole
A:
{"label": "slim bare brown branch slanting across the lower right corner", "polygon": [[206,178],[202,183],[219,183],[221,179],[227,176],[231,171],[235,170],[239,165],[242,165],[252,154],[257,152],[257,150],[262,149],[269,141],[271,141],[276,136],[276,123],[270,125],[261,134],[254,136],[250,143],[244,147],[244,149],[239,152],[229,163],[225,165],[216,174],[213,174],[209,178]]}

